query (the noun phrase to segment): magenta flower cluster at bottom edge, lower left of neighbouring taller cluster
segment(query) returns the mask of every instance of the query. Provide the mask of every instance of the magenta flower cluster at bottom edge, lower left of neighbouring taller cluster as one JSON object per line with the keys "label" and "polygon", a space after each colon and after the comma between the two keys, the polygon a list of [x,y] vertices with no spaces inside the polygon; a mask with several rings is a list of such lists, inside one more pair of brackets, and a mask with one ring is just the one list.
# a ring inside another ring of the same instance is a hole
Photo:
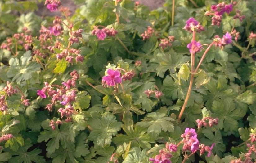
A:
{"label": "magenta flower cluster at bottom edge, lower left of neighbouring taller cluster", "polygon": [[155,158],[150,158],[150,161],[154,161],[154,163],[172,163],[170,158],[173,157],[171,152],[177,151],[177,145],[175,144],[165,144],[165,148],[159,150],[159,154],[155,156]]}

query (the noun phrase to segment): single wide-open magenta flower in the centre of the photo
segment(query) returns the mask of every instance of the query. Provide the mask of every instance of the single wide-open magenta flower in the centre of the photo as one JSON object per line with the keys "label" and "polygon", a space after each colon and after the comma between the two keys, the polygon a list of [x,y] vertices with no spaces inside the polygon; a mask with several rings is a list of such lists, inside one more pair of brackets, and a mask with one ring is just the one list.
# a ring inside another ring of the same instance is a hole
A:
{"label": "single wide-open magenta flower in the centre of the photo", "polygon": [[117,83],[122,82],[120,72],[118,70],[108,69],[108,75],[102,77],[102,83],[106,83],[108,86],[115,86]]}

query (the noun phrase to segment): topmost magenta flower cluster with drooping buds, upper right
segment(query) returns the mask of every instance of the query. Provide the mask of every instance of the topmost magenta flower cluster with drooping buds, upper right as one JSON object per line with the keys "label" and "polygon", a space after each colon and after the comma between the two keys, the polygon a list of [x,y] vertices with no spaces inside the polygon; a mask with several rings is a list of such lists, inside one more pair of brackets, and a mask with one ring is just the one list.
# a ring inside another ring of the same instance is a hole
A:
{"label": "topmost magenta flower cluster with drooping buds, upper right", "polygon": [[212,5],[211,10],[207,11],[205,15],[213,15],[212,25],[220,26],[222,21],[222,15],[226,12],[229,14],[233,10],[232,4],[225,4],[225,2],[219,3],[218,5]]}

